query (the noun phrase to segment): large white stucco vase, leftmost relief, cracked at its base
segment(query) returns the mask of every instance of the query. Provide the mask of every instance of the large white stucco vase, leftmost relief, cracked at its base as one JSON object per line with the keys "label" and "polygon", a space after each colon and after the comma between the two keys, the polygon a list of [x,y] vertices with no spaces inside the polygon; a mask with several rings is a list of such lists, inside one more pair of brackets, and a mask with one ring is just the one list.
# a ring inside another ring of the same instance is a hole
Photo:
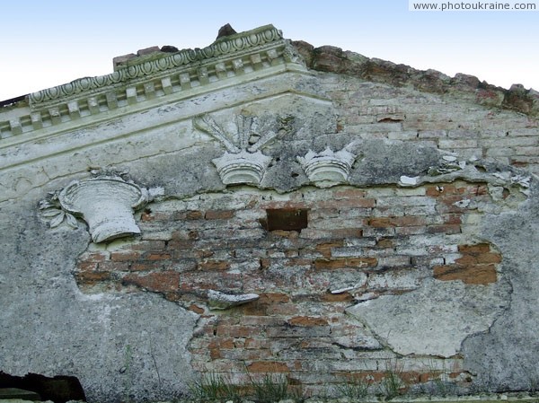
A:
{"label": "large white stucco vase, leftmost relief, cracked at its base", "polygon": [[121,178],[100,177],[77,180],[57,198],[67,214],[88,223],[92,240],[99,243],[140,233],[133,210],[146,204],[148,193]]}

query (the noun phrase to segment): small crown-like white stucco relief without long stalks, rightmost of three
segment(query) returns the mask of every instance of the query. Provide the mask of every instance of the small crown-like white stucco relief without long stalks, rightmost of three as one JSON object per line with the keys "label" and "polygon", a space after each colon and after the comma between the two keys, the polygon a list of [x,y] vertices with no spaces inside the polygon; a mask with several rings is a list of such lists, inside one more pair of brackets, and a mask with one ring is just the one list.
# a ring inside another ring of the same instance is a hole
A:
{"label": "small crown-like white stucco relief without long stalks, rightmost of three", "polygon": [[334,152],[329,146],[321,153],[309,150],[304,157],[297,157],[309,180],[319,188],[330,188],[347,182],[355,160],[356,155],[346,147]]}

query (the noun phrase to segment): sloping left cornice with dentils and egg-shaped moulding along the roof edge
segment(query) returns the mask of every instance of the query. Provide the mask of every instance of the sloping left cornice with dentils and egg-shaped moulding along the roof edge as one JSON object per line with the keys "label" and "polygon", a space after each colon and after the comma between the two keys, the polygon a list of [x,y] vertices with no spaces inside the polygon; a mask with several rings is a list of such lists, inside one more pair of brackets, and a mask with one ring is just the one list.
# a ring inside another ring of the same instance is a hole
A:
{"label": "sloping left cornice with dentils and egg-shaped moulding along the roof edge", "polygon": [[132,61],[111,74],[33,92],[28,96],[29,107],[11,110],[4,121],[0,115],[0,139],[44,127],[59,129],[79,118],[97,117],[146,101],[181,99],[192,89],[237,82],[238,78],[248,81],[253,75],[287,64],[304,68],[282,32],[266,25],[218,39],[206,48],[141,58],[139,63]]}

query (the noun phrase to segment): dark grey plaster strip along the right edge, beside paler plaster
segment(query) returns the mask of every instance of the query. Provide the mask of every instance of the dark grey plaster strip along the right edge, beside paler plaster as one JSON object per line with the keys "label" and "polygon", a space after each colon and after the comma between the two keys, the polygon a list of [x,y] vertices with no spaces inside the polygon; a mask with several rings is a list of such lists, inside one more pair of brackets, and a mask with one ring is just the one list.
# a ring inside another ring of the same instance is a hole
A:
{"label": "dark grey plaster strip along the right edge, beside paler plaster", "polygon": [[515,212],[489,215],[482,233],[503,253],[508,306],[489,329],[463,344],[465,363],[490,390],[535,388],[539,380],[539,194]]}

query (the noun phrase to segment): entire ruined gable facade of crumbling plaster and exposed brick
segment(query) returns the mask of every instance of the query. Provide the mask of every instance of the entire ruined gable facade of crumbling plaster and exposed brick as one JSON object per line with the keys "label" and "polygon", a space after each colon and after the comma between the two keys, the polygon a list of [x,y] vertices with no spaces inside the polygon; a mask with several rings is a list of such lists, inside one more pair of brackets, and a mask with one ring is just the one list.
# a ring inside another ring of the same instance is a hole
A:
{"label": "entire ruined gable facade of crumbling plaster and exposed brick", "polygon": [[272,26],[142,53],[0,110],[0,371],[536,385],[536,92]]}

